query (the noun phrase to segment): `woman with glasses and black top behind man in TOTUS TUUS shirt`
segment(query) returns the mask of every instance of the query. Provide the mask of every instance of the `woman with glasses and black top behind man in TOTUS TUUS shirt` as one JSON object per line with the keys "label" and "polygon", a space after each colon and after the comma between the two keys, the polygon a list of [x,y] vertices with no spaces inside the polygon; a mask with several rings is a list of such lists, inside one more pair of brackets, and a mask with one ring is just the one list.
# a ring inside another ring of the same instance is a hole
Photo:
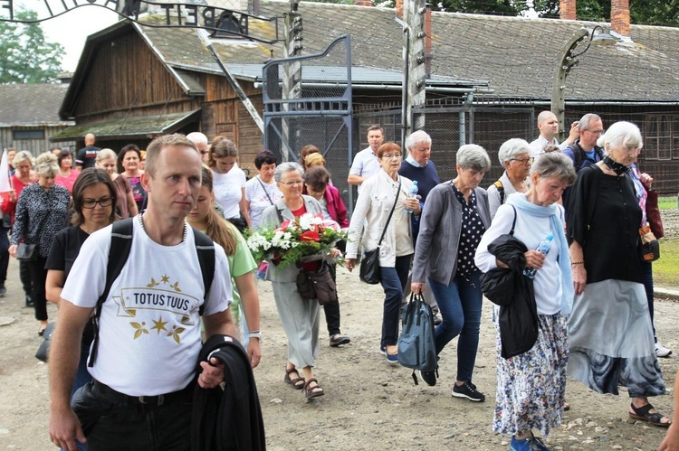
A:
{"label": "woman with glasses and black top behind man in TOTUS TUUS shirt", "polygon": [[[112,153],[112,151],[111,151]],[[50,254],[44,268],[47,270],[45,283],[47,300],[57,306],[61,301],[62,287],[80,253],[82,243],[92,233],[110,225],[116,219],[116,189],[110,176],[97,168],[83,169],[73,184],[72,227],[59,231],[54,237]],[[77,275],[75,277],[78,277]],[[73,381],[71,396],[87,382],[91,375],[87,371],[87,358],[94,338],[91,323],[85,325],[81,341],[81,360]]]}

